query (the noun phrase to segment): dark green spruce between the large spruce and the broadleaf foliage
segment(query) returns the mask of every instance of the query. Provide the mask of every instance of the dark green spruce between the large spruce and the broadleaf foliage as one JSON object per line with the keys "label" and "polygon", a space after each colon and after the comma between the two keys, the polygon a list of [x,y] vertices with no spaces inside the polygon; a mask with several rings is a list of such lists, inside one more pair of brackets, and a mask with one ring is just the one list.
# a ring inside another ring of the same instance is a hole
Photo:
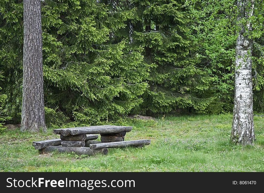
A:
{"label": "dark green spruce between the large spruce and the broadleaf foliage", "polygon": [[[170,112],[192,107],[202,111],[214,97],[204,97],[212,77],[196,64],[189,40],[190,21],[184,1],[133,1],[137,7],[134,27],[134,46],[145,47],[145,61],[152,65],[148,77],[149,89],[144,93],[140,110],[154,113]],[[140,23],[140,25],[139,25]]]}

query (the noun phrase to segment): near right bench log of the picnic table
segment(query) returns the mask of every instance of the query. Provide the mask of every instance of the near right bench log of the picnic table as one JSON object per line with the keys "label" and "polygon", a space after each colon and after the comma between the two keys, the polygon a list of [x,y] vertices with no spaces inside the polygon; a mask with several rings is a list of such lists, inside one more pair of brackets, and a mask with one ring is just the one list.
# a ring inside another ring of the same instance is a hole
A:
{"label": "near right bench log of the picnic table", "polygon": [[101,148],[114,148],[114,147],[126,147],[126,146],[140,146],[140,145],[149,145],[149,144],[150,144],[150,139],[142,139],[142,140],[111,142],[111,143],[90,144],[90,148],[101,149]]}

